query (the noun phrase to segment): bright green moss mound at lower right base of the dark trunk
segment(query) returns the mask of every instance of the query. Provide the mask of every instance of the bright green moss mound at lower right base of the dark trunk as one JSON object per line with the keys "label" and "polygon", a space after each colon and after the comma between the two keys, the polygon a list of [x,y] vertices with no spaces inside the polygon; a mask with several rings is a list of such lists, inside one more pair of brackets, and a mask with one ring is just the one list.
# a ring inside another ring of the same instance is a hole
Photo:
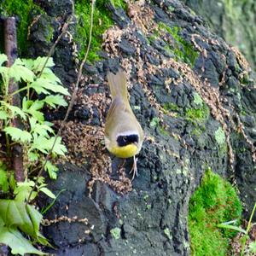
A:
{"label": "bright green moss mound at lower right base of the dark trunk", "polygon": [[236,190],[208,169],[189,201],[191,255],[227,255],[229,239],[236,231],[220,230],[217,224],[235,218],[241,218],[241,202]]}

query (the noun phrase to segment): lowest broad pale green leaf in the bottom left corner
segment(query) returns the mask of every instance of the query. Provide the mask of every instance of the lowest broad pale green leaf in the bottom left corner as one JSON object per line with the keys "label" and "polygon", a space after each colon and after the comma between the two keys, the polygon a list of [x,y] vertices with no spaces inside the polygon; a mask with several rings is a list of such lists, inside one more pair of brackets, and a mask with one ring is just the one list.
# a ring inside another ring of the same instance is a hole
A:
{"label": "lowest broad pale green leaf in the bottom left corner", "polygon": [[32,246],[20,231],[13,228],[3,227],[0,232],[0,242],[8,245],[12,251],[12,254],[24,255],[26,253],[46,255],[46,253],[40,252],[38,249]]}

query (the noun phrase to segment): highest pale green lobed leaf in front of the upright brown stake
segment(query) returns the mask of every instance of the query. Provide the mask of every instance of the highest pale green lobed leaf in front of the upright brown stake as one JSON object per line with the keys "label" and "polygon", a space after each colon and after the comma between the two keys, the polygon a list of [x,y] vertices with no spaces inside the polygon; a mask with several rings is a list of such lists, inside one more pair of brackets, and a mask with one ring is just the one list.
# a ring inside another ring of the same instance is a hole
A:
{"label": "highest pale green lobed leaf in front of the upright brown stake", "polygon": [[9,76],[14,78],[17,82],[20,82],[22,79],[29,83],[31,83],[35,78],[35,74],[25,67],[24,63],[20,59],[16,59],[15,63],[9,67]]}

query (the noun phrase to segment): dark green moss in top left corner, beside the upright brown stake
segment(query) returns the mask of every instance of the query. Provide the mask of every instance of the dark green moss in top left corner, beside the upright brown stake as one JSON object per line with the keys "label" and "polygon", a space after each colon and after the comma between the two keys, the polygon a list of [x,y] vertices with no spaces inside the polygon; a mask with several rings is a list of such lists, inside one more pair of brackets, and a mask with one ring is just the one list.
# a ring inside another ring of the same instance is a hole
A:
{"label": "dark green moss in top left corner, beside the upright brown stake", "polygon": [[17,41],[20,55],[27,49],[26,38],[30,23],[32,22],[31,13],[43,13],[43,10],[33,0],[3,0],[0,3],[0,13],[6,17],[18,16]]}

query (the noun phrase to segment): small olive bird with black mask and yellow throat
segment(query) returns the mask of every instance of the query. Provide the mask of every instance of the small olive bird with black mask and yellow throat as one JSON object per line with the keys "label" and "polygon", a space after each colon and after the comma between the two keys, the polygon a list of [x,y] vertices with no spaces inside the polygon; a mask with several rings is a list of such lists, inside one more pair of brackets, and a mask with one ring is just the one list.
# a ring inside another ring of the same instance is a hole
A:
{"label": "small olive bird with black mask and yellow throat", "polygon": [[105,125],[105,144],[108,151],[119,158],[133,157],[132,179],[137,175],[138,154],[143,145],[143,129],[131,110],[125,72],[108,73],[112,103]]}

